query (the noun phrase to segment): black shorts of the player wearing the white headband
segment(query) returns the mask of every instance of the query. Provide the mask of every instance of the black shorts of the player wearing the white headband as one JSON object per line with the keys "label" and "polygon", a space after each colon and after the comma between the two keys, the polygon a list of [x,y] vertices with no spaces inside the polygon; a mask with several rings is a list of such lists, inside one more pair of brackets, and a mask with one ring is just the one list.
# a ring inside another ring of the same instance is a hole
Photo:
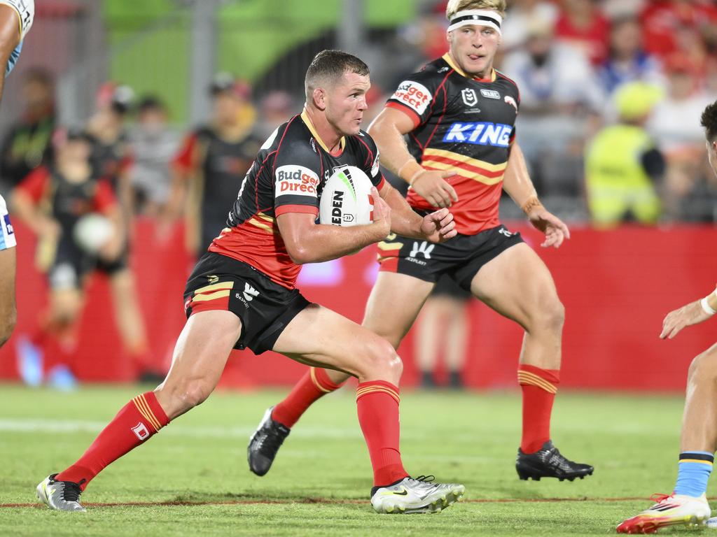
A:
{"label": "black shorts of the player wearing the white headband", "polygon": [[391,233],[379,243],[379,270],[432,283],[446,274],[461,289],[470,291],[473,276],[485,263],[522,242],[520,233],[511,233],[502,225],[477,235],[457,235],[441,244]]}

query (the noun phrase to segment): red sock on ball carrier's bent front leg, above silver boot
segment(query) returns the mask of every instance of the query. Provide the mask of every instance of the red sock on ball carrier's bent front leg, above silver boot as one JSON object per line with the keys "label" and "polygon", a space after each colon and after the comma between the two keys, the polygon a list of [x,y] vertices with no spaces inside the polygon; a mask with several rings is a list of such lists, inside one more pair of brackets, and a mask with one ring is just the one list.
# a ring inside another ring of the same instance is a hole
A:
{"label": "red sock on ball carrier's bent front leg, above silver boot", "polygon": [[360,382],[356,389],[359,424],[374,467],[374,486],[405,478],[399,451],[399,389],[391,382]]}

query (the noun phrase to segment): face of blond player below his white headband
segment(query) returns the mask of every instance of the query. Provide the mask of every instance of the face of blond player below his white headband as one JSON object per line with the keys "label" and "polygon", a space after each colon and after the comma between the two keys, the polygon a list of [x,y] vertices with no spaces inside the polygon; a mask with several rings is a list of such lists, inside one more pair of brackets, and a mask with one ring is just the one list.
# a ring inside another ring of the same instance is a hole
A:
{"label": "face of blond player below his white headband", "polygon": [[490,26],[468,24],[448,32],[450,54],[463,71],[471,76],[485,77],[493,68],[500,34]]}

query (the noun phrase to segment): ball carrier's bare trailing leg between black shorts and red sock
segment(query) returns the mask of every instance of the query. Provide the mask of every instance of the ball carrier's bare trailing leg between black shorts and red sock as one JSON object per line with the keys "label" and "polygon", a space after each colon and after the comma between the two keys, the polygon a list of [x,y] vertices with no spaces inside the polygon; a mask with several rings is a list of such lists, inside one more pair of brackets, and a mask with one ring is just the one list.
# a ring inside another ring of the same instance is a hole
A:
{"label": "ball carrier's bare trailing leg between black shorts and red sock", "polygon": [[231,311],[200,311],[187,319],[167,377],[156,390],[170,419],[209,397],[241,334],[242,321]]}

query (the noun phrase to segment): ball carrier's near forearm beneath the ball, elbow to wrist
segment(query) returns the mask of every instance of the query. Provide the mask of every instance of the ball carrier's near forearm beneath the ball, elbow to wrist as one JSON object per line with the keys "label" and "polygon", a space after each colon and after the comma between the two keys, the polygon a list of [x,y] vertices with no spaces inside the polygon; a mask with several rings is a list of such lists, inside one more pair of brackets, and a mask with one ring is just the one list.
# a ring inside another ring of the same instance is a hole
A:
{"label": "ball carrier's near forearm beneath the ball, elbow to wrist", "polygon": [[290,248],[289,255],[300,265],[321,263],[356,253],[384,238],[375,224],[350,228],[317,224]]}

